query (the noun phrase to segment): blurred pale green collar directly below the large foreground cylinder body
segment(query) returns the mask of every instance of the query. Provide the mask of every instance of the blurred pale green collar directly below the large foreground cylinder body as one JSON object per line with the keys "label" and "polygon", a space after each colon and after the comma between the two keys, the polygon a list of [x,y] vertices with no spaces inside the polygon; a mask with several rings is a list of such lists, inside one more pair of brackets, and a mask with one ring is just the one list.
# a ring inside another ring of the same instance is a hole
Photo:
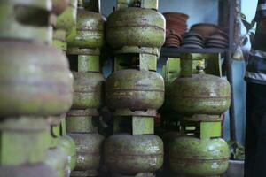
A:
{"label": "blurred pale green collar directly below the large foreground cylinder body", "polygon": [[0,165],[43,162],[49,146],[49,127],[37,117],[4,119],[0,124]]}

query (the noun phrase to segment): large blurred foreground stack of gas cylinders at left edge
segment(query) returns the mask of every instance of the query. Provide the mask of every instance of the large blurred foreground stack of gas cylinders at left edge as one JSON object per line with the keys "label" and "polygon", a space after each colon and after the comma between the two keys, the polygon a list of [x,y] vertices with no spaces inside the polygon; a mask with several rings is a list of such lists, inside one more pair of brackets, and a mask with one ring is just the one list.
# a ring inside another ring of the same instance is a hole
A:
{"label": "large blurred foreground stack of gas cylinders at left edge", "polygon": [[65,166],[55,169],[45,163],[50,147],[47,117],[67,112],[73,99],[66,56],[49,46],[51,1],[4,0],[0,8],[0,173],[67,176],[60,173]]}

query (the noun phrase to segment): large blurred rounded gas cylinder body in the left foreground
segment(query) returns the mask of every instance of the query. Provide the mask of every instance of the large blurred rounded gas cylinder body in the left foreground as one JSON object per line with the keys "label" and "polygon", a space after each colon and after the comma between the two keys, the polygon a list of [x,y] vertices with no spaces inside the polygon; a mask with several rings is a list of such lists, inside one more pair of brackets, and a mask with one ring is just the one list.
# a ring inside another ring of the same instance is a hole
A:
{"label": "large blurred rounded gas cylinder body in the left foreground", "polygon": [[[0,41],[0,115],[59,115],[73,100],[73,75],[59,50]],[[56,59],[55,59],[56,58]]]}

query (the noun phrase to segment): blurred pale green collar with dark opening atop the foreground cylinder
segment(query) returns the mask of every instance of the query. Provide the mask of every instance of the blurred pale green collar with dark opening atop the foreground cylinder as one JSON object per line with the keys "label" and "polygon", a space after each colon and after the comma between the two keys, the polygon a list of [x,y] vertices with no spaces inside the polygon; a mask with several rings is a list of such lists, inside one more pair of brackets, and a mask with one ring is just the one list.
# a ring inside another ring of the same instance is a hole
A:
{"label": "blurred pale green collar with dark opening atop the foreground cylinder", "polygon": [[0,37],[51,43],[50,12],[49,0],[2,0]]}

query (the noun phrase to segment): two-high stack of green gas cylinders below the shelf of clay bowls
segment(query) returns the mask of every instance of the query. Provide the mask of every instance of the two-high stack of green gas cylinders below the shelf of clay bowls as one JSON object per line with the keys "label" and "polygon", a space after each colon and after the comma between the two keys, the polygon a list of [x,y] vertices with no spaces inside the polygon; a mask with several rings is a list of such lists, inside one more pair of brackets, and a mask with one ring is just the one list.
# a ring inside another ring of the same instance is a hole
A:
{"label": "two-high stack of green gas cylinders below the shelf of clay bowls", "polygon": [[[169,65],[178,65],[171,60],[164,69],[166,76]],[[170,176],[220,176],[229,163],[228,145],[221,136],[222,114],[231,101],[230,84],[205,74],[204,58],[198,60],[192,54],[184,54],[178,60],[181,68],[176,72],[180,76],[167,80],[170,96],[165,107],[177,116],[165,118],[170,125],[170,131],[163,135],[167,151],[165,169]]]}

